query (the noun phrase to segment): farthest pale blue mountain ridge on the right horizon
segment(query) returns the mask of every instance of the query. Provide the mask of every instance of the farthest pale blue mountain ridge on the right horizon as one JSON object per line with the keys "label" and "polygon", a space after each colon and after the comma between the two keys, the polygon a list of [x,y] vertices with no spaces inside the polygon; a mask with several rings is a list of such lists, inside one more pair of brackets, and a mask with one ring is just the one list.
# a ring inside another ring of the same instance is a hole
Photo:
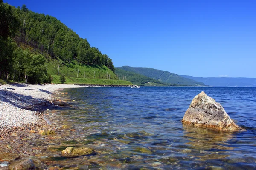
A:
{"label": "farthest pale blue mountain ridge on the right horizon", "polygon": [[227,86],[227,87],[256,87],[256,78],[230,78],[230,77],[193,77],[180,75],[182,77],[203,82],[210,86]]}

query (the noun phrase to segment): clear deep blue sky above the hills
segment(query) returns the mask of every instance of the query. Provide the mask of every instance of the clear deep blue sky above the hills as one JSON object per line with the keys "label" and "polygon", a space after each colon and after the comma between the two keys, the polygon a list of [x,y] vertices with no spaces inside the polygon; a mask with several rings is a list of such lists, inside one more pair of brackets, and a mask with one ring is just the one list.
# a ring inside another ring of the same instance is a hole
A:
{"label": "clear deep blue sky above the hills", "polygon": [[256,0],[3,0],[56,17],[115,67],[256,77]]}

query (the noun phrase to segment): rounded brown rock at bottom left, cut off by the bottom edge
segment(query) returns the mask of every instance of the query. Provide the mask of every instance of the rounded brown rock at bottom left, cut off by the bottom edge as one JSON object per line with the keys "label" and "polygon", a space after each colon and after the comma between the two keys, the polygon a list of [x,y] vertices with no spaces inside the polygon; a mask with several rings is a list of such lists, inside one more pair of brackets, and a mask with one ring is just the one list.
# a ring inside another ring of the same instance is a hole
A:
{"label": "rounded brown rock at bottom left, cut off by the bottom edge", "polygon": [[8,170],[35,170],[35,164],[31,159],[20,159],[10,164]]}

